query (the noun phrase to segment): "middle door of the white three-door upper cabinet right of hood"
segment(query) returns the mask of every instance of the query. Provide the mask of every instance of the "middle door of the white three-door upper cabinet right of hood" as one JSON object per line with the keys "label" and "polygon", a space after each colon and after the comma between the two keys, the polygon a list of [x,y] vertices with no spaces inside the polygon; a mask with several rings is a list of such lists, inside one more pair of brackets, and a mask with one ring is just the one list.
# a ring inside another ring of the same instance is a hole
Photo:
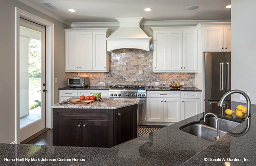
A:
{"label": "middle door of the white three-door upper cabinet right of hood", "polygon": [[168,31],[168,70],[182,71],[182,31]]}

